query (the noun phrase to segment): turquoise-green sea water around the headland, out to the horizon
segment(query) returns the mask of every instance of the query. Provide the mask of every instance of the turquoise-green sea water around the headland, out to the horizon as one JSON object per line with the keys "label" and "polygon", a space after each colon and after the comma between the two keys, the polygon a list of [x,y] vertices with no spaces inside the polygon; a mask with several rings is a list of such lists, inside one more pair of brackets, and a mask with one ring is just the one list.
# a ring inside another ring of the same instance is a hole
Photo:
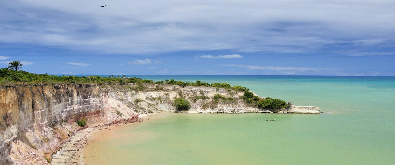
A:
{"label": "turquoise-green sea water around the headland, out to the horizon", "polygon": [[227,82],[333,114],[175,114],[92,141],[88,164],[395,163],[394,76],[130,77]]}

